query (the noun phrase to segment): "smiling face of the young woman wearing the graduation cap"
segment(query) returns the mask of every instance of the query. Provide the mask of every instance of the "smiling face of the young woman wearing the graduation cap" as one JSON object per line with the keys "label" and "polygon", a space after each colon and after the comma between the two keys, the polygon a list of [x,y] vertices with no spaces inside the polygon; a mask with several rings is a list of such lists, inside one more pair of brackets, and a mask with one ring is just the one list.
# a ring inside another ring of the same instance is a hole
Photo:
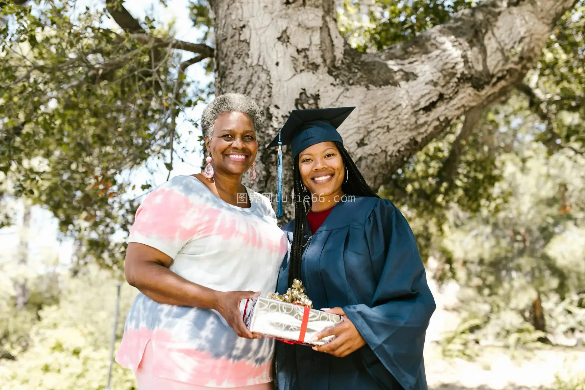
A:
{"label": "smiling face of the young woman wearing the graduation cap", "polygon": [[345,165],[335,143],[316,143],[303,150],[298,156],[298,168],[302,183],[312,194],[324,197],[343,194]]}

